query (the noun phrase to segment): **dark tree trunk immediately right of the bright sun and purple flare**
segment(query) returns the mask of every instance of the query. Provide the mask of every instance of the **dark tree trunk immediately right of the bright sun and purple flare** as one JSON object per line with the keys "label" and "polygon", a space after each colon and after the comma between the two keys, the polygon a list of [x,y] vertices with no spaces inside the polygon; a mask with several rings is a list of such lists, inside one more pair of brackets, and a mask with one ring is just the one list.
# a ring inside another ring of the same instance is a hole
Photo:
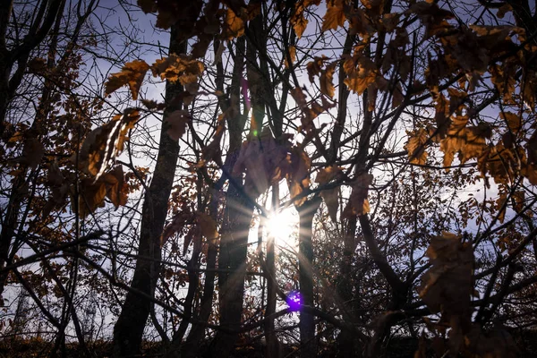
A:
{"label": "dark tree trunk immediately right of the bright sun and purple flare", "polygon": [[[301,207],[296,207],[299,216],[299,246],[298,246],[298,270],[300,294],[304,306],[314,307],[313,303],[313,216],[319,209],[321,199],[319,197],[307,200]],[[315,321],[311,313],[300,312],[300,356],[317,356],[317,344],[315,341]]]}

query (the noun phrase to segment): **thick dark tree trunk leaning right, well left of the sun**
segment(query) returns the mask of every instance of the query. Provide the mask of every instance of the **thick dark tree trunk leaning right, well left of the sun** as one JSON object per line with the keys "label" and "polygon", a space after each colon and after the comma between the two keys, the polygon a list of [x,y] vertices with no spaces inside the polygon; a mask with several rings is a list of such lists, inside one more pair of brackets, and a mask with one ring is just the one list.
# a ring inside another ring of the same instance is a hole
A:
{"label": "thick dark tree trunk leaning right, well left of the sun", "polygon": [[[186,43],[178,43],[175,28],[171,30],[170,53],[185,54]],[[183,91],[183,86],[166,82],[166,103]],[[166,133],[166,115],[182,104],[167,107],[160,131],[157,165],[149,190],[145,193],[138,254],[150,258],[136,260],[131,287],[153,296],[157,286],[161,259],[160,235],[166,222],[167,204],[175,177],[175,166],[179,155],[179,145]],[[127,294],[121,314],[114,328],[114,356],[123,357],[139,354],[141,338],[149,317],[151,302],[131,291]]]}

